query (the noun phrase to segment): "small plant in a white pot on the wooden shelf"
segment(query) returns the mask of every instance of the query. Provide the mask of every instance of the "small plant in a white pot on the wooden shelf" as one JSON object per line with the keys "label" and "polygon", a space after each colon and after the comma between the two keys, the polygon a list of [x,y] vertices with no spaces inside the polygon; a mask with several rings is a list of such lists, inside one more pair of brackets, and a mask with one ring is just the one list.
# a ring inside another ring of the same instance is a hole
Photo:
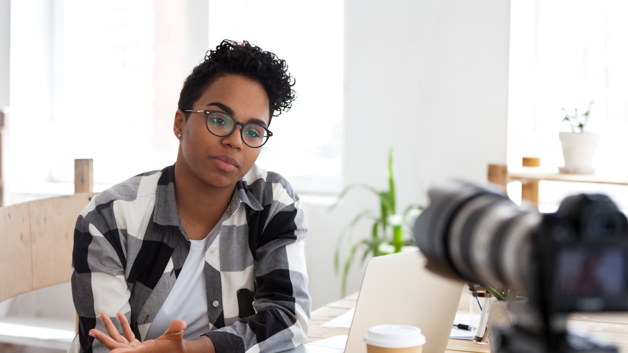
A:
{"label": "small plant in a white pot on the wooden shelf", "polygon": [[561,173],[592,174],[594,171],[592,163],[600,134],[585,132],[592,104],[593,101],[589,103],[587,111],[582,113],[574,109],[573,114],[570,114],[563,108],[565,117],[562,122],[568,122],[571,131],[561,131],[558,135],[565,160],[565,166],[559,168]]}

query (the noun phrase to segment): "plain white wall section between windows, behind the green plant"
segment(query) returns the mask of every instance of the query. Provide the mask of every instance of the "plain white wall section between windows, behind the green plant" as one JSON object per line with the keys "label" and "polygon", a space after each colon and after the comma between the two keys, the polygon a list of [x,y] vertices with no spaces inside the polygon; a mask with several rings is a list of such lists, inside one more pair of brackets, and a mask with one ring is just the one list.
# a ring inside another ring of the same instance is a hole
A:
{"label": "plain white wall section between windows, behind the green plant", "polygon": [[[384,188],[388,146],[402,209],[426,205],[437,180],[483,183],[487,163],[506,162],[509,11],[502,0],[345,0],[345,185]],[[317,308],[340,296],[340,229],[376,200],[355,193],[332,214],[305,201]],[[349,293],[361,274],[352,271]]]}

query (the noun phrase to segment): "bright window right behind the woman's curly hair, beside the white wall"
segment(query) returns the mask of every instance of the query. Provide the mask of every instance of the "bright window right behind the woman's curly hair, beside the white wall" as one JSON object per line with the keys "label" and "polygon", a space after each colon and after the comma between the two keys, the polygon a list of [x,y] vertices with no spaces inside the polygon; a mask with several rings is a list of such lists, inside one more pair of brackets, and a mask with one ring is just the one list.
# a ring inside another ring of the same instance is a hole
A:
{"label": "bright window right behind the woman's curly hair, beside the white wall", "polygon": [[343,6],[337,0],[209,2],[210,45],[249,38],[286,60],[296,79],[298,99],[273,119],[274,136],[258,163],[300,191],[340,188]]}

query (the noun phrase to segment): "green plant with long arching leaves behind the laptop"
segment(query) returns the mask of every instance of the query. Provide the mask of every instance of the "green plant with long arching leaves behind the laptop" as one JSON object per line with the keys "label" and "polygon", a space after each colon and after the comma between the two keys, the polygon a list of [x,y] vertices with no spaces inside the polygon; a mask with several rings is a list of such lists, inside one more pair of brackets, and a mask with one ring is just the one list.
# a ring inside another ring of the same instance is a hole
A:
{"label": "green plant with long arching leaves behind the laptop", "polygon": [[[377,210],[365,209],[356,214],[338,237],[334,253],[334,270],[336,274],[342,273],[342,296],[346,294],[347,276],[356,256],[360,256],[360,264],[364,264],[369,255],[399,253],[404,246],[414,246],[411,219],[416,218],[423,207],[408,205],[403,212],[398,213],[393,175],[393,148],[389,149],[387,181],[387,190],[377,190],[364,184],[349,185],[338,194],[336,202],[329,207],[330,211],[336,209],[347,193],[355,188],[368,190],[377,197]],[[371,234],[368,237],[356,239],[355,227],[361,222],[370,223]],[[344,245],[347,246],[347,253],[342,256],[341,251]]]}

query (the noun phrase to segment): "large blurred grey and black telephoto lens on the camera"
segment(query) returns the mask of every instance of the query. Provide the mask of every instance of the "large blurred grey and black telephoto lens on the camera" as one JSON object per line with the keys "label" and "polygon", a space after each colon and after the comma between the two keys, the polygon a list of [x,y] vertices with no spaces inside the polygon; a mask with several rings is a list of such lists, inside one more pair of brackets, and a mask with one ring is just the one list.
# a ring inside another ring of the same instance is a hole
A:
{"label": "large blurred grey and black telephoto lens on the camera", "polygon": [[530,234],[541,222],[497,187],[450,180],[429,192],[431,204],[416,220],[414,237],[428,268],[472,283],[523,290]]}

